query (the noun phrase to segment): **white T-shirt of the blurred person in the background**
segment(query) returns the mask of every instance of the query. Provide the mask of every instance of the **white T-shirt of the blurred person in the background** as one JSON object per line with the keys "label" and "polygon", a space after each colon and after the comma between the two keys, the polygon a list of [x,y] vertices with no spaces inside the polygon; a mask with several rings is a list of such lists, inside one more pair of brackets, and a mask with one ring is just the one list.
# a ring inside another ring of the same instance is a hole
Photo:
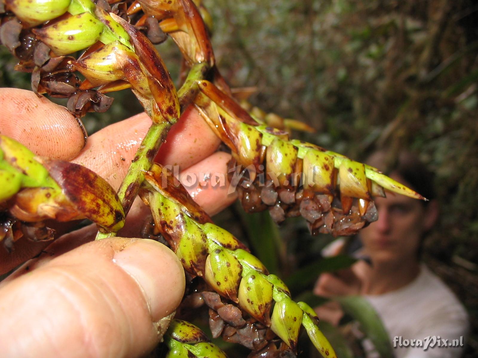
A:
{"label": "white T-shirt of the blurred person in the background", "polygon": [[[365,298],[382,318],[396,358],[460,357],[463,351],[460,344],[465,343],[468,329],[467,312],[452,291],[425,265],[421,266],[417,278],[405,287]],[[411,346],[413,339],[415,347]],[[446,339],[446,343],[442,339]],[[445,344],[456,346],[444,347]]]}

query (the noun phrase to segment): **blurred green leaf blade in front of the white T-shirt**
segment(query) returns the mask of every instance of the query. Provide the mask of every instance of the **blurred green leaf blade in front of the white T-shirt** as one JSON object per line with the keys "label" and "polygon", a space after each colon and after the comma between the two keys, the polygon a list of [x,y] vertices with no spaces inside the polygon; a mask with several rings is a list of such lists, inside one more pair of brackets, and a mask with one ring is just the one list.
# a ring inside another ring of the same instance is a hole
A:
{"label": "blurred green leaf blade in front of the white T-shirt", "polygon": [[380,316],[362,296],[335,297],[345,313],[359,321],[367,337],[371,339],[380,357],[393,357],[390,337]]}

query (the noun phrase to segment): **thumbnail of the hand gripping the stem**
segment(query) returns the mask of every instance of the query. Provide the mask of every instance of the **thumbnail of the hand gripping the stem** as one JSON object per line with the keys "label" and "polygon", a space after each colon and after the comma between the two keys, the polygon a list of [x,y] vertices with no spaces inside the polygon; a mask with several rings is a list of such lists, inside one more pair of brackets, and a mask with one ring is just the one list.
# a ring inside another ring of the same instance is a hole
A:
{"label": "thumbnail of the hand gripping the stem", "polygon": [[126,271],[143,292],[153,322],[171,314],[184,295],[184,269],[176,255],[149,239],[131,243],[115,253],[113,262]]}

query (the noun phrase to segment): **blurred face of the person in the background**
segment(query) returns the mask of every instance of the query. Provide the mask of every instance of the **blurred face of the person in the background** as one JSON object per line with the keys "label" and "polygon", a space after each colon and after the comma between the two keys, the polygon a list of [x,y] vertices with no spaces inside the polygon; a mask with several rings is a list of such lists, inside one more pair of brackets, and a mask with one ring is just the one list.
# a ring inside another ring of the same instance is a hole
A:
{"label": "blurred face of the person in the background", "polygon": [[[398,175],[391,175],[409,185]],[[372,263],[400,263],[417,258],[424,232],[434,225],[436,205],[425,208],[420,200],[387,192],[387,198],[376,198],[379,219],[360,231],[360,238]]]}

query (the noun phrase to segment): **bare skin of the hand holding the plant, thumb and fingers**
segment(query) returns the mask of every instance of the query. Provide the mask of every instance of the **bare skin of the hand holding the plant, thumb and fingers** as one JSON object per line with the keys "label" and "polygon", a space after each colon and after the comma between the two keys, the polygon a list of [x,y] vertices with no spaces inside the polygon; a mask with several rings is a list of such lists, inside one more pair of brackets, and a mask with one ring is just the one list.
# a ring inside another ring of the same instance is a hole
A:
{"label": "bare skin of the hand holding the plant, thumb and fingers", "polygon": [[[0,132],[39,156],[94,170],[117,189],[151,125],[145,114],[108,126],[85,141],[64,107],[33,92],[0,88]],[[14,119],[14,120],[13,120]],[[170,131],[156,161],[182,172],[227,173],[230,155],[192,109]],[[227,175],[226,175],[227,178]],[[190,193],[209,214],[236,196],[222,188]],[[138,236],[148,208],[136,200],[121,236]],[[0,248],[0,272],[38,255],[0,283],[2,357],[141,357],[162,338],[164,322],[185,289],[174,253],[152,240],[93,241],[96,227],[69,232],[53,243],[15,242]]]}

